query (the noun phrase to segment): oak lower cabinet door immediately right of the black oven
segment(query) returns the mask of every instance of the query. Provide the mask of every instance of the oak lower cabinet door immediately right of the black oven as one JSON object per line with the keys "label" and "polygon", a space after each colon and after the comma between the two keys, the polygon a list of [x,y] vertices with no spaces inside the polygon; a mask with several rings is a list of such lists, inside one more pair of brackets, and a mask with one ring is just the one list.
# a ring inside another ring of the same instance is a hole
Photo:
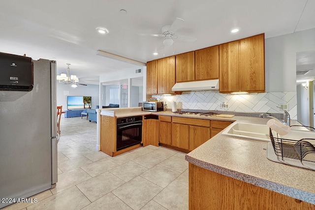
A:
{"label": "oak lower cabinet door immediately right of the black oven", "polygon": [[153,145],[158,147],[158,120],[143,120],[142,124],[143,147]]}

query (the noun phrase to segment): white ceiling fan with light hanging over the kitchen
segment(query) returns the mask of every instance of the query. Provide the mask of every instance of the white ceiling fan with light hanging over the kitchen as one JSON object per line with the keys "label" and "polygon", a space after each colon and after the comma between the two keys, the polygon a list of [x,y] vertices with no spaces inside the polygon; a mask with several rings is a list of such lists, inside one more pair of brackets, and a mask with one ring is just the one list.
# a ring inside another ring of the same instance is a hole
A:
{"label": "white ceiling fan with light hanging over the kitchen", "polygon": [[197,41],[196,37],[190,37],[190,36],[183,36],[183,35],[177,35],[175,32],[181,28],[183,25],[184,20],[181,18],[176,18],[172,25],[165,25],[161,28],[162,34],[147,34],[147,33],[138,33],[138,35],[143,36],[156,36],[156,37],[165,37],[163,40],[163,47],[169,47],[174,43],[174,39],[182,40],[182,41],[188,41],[188,42],[195,42]]}

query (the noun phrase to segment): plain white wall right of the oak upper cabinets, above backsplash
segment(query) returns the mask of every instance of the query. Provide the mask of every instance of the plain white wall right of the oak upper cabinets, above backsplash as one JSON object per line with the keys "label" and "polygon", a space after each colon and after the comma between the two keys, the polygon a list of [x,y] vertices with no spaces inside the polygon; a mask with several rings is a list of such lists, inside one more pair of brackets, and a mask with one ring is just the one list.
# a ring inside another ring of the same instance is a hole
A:
{"label": "plain white wall right of the oak upper cabinets, above backsplash", "polygon": [[265,39],[266,92],[296,91],[296,53],[315,50],[315,29]]}

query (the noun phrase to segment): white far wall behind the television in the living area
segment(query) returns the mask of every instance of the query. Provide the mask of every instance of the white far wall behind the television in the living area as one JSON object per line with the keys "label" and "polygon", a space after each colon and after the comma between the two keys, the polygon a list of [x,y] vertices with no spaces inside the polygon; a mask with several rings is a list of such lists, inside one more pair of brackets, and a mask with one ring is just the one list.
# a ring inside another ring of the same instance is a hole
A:
{"label": "white far wall behind the television in the living area", "polygon": [[57,106],[63,106],[63,110],[67,109],[67,95],[92,96],[92,109],[98,105],[98,85],[78,85],[77,88],[72,88],[71,85],[57,82]]}

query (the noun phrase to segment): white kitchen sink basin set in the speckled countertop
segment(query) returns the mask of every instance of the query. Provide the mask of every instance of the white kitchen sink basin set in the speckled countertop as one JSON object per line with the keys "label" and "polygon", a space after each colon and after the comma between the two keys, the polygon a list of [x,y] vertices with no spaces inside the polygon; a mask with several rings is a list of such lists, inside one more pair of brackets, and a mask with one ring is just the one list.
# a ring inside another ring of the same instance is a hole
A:
{"label": "white kitchen sink basin set in the speckled countertop", "polygon": [[265,124],[252,124],[244,122],[234,122],[223,132],[225,136],[239,137],[257,141],[269,142],[269,127]]}

